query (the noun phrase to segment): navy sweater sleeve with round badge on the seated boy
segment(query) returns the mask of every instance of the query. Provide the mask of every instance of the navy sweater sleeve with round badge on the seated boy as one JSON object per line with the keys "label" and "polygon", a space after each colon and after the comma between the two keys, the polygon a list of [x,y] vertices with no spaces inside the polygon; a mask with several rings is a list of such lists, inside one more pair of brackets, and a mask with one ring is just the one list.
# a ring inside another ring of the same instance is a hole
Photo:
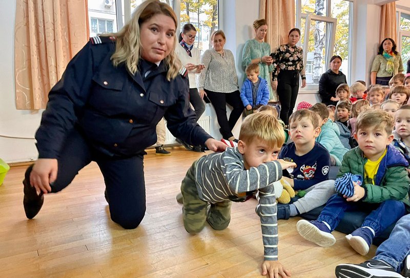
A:
{"label": "navy sweater sleeve with round badge on the seated boy", "polygon": [[[321,154],[316,159],[316,171],[311,179],[294,179],[294,189],[304,190],[308,189],[316,183],[327,180],[330,169],[330,155],[326,150],[321,149]],[[300,165],[298,165],[300,167]]]}

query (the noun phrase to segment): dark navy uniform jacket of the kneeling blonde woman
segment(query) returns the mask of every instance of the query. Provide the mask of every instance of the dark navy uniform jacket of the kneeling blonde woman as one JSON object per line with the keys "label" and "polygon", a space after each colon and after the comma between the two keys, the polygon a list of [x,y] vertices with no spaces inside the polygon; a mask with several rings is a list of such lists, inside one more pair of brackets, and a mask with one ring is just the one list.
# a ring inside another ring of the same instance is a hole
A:
{"label": "dark navy uniform jacket of the kneeling blonde woman", "polygon": [[139,72],[132,75],[124,64],[114,67],[110,58],[115,40],[99,38],[101,43],[90,40],[78,52],[51,89],[35,135],[39,158],[58,158],[73,128],[98,152],[141,154],[155,144],[155,127],[162,117],[174,136],[191,145],[203,145],[211,138],[195,122],[184,77],[168,81],[168,69],[161,61],[143,81]]}

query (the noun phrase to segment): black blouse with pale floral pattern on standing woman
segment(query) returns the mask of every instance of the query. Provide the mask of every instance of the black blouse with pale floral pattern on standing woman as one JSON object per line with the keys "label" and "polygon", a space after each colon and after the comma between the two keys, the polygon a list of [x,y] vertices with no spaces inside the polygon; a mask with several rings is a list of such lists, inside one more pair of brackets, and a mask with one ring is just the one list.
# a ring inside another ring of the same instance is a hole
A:
{"label": "black blouse with pale floral pattern on standing woman", "polygon": [[[276,50],[273,57],[272,79],[277,80],[279,71],[299,71],[302,79],[306,79],[303,67],[303,50],[302,48],[291,47],[289,44],[282,44]],[[278,71],[279,66],[279,71]]]}

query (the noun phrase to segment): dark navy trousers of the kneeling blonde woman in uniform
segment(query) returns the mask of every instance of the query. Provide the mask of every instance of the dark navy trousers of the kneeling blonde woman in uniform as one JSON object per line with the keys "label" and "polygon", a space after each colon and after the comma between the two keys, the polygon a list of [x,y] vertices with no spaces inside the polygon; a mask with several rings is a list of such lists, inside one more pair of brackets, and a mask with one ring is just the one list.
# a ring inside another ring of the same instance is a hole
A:
{"label": "dark navy trousers of the kneeling blonde woman in uniform", "polygon": [[[50,184],[51,192],[65,189],[79,170],[91,161],[96,161],[104,176],[111,219],[126,229],[136,228],[146,211],[143,158],[142,154],[129,158],[101,155],[88,144],[83,135],[74,130],[57,159],[57,179]],[[27,172],[31,169],[32,166]],[[27,172],[26,176],[29,176]]]}

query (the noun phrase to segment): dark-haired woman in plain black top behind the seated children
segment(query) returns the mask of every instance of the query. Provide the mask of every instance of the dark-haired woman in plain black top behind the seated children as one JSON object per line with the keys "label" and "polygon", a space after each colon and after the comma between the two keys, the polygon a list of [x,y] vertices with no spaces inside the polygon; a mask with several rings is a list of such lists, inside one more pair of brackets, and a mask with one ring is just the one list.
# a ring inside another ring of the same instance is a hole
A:
{"label": "dark-haired woman in plain black top behind the seated children", "polygon": [[342,65],[342,57],[333,55],[330,58],[330,69],[323,73],[319,79],[319,95],[322,103],[326,105],[335,105],[339,101],[336,98],[336,89],[340,84],[347,83],[346,76],[339,71]]}

